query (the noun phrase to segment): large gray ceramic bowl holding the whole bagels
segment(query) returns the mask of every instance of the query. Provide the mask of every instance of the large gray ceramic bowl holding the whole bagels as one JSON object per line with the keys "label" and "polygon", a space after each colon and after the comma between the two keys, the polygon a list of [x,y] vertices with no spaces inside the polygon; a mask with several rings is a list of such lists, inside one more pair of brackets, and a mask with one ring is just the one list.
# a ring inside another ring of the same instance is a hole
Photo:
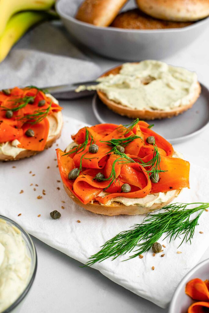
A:
{"label": "large gray ceramic bowl holding the whole bagels", "polygon": [[[125,61],[162,59],[191,44],[209,23],[205,18],[184,28],[132,30],[97,27],[74,18],[82,0],[59,0],[56,10],[69,33],[80,43],[105,57]],[[125,9],[133,8],[133,1]]]}

